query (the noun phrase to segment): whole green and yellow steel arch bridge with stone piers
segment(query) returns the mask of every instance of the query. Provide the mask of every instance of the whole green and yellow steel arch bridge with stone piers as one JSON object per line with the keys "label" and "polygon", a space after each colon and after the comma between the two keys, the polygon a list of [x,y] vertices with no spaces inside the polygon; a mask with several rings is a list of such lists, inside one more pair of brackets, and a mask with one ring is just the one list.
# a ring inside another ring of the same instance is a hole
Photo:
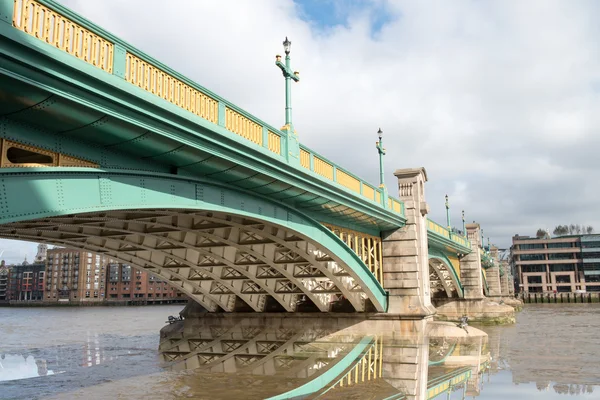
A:
{"label": "whole green and yellow steel arch bridge with stone piers", "polygon": [[480,227],[427,218],[425,169],[390,196],[302,145],[291,103],[278,129],[55,1],[0,0],[0,134],[0,237],[106,254],[207,311],[484,297]]}

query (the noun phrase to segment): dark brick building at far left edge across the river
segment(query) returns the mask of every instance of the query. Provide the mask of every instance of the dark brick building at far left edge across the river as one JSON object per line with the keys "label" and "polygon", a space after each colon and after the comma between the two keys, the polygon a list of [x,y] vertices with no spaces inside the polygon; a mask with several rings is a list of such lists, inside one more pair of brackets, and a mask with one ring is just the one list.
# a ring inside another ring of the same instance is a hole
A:
{"label": "dark brick building at far left edge across the river", "polygon": [[13,265],[8,268],[6,300],[41,301],[44,296],[46,266],[44,264]]}

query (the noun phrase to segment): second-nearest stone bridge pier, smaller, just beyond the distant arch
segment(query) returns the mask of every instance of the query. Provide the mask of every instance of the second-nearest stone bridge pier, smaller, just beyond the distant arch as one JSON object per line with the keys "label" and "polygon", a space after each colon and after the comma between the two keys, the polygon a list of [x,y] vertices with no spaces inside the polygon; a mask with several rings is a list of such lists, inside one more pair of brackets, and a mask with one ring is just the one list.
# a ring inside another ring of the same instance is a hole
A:
{"label": "second-nearest stone bridge pier, smaller, just beyond the distant arch", "polygon": [[479,224],[466,224],[467,236],[471,242],[471,252],[460,259],[460,281],[465,299],[482,299],[483,278],[481,277],[481,228]]}

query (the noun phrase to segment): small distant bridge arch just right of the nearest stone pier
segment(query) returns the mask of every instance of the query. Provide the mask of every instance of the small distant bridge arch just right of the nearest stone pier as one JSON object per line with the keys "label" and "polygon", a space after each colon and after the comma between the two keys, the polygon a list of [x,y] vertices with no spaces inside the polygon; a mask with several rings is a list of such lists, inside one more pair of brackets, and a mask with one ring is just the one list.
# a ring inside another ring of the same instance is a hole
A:
{"label": "small distant bridge arch just right of the nearest stone pier", "polygon": [[443,251],[429,248],[429,281],[432,298],[445,293],[448,298],[463,297],[460,279],[448,256]]}

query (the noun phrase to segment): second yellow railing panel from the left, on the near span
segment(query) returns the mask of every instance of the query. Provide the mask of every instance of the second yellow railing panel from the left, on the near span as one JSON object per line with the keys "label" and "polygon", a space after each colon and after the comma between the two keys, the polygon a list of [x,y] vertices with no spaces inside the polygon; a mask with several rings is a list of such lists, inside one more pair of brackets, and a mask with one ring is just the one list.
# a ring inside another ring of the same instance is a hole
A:
{"label": "second yellow railing panel from the left, on the near span", "polygon": [[125,80],[212,123],[219,121],[215,99],[131,53],[127,53]]}

